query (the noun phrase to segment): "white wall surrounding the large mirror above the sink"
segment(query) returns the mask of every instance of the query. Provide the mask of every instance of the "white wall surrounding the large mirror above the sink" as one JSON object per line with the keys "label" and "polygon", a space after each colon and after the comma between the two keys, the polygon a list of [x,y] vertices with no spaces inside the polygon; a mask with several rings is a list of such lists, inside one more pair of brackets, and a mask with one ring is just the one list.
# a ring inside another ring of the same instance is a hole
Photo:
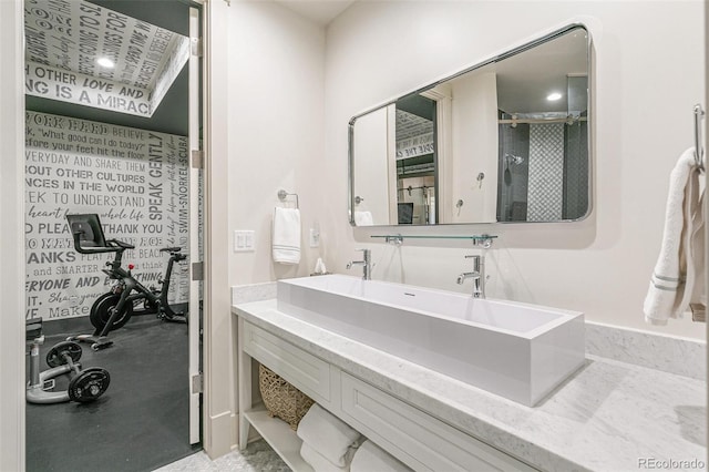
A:
{"label": "white wall surrounding the large mirror above the sink", "polygon": [[[470,244],[370,244],[384,229],[347,224],[350,116],[579,17],[594,35],[594,209],[573,224],[466,225],[404,234],[500,236],[489,252],[489,296],[577,309],[593,321],[703,338],[703,326],[645,324],[643,300],[660,246],[669,172],[692,145],[705,103],[703,6],[696,1],[358,2],[327,31],[327,207],[330,266],[345,271],[370,245],[373,278],[469,291]],[[400,250],[400,253],[398,253]]]}

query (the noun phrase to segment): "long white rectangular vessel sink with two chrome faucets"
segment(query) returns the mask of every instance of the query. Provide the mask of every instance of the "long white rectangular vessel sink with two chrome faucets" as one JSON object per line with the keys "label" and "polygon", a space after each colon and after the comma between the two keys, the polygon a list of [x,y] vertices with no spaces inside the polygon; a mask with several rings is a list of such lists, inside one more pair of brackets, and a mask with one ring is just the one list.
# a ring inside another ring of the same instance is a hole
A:
{"label": "long white rectangular vessel sink with two chrome faucets", "polygon": [[278,281],[278,310],[533,407],[584,365],[584,315],[357,277]]}

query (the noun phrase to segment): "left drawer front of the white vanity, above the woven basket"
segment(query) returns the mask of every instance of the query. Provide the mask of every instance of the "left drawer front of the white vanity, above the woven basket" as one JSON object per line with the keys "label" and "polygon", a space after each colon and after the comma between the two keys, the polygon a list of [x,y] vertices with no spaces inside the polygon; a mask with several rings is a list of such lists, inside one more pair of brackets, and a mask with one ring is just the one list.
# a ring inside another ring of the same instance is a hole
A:
{"label": "left drawer front of the white vanity, above the woven basket", "polygon": [[298,390],[330,402],[330,365],[249,322],[244,322],[244,351]]}

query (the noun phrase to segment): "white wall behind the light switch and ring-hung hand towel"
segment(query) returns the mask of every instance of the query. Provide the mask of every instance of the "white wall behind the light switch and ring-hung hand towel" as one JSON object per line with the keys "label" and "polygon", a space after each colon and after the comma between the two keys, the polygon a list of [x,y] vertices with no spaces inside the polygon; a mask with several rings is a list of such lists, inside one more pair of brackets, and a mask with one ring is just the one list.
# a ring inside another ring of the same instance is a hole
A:
{"label": "white wall behind the light switch and ring-hung hand towel", "polygon": [[[309,228],[319,223],[323,201],[330,198],[319,172],[325,29],[274,2],[232,1],[229,10],[229,240],[234,229],[256,232],[255,252],[235,254],[229,247],[229,281],[306,276],[320,255],[309,248]],[[271,218],[274,206],[281,204],[280,188],[297,193],[300,201],[298,266],[271,259]],[[343,212],[347,222],[347,206]]]}

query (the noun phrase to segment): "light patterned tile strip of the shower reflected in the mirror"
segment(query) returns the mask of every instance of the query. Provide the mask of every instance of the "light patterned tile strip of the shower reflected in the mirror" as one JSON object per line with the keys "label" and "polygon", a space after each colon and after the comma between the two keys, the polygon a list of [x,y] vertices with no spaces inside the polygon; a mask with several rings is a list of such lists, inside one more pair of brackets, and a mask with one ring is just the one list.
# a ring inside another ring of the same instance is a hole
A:
{"label": "light patterned tile strip of the shower reflected in the mirror", "polygon": [[562,219],[564,123],[530,125],[527,222]]}

